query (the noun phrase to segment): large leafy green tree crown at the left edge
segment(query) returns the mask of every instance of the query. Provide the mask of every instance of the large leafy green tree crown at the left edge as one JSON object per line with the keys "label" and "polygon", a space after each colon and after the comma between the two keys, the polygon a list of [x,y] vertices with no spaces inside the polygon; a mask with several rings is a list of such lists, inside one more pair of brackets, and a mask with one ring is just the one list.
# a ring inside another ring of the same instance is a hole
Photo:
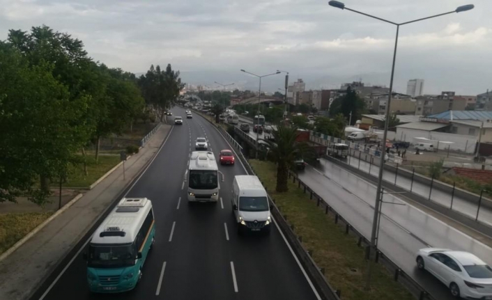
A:
{"label": "large leafy green tree crown at the left edge", "polygon": [[[67,174],[74,153],[89,141],[91,127],[82,119],[90,97],[70,99],[53,76],[54,64],[30,65],[17,47],[0,44],[0,201],[26,195],[42,204],[47,180]],[[38,176],[41,189],[33,188]]]}

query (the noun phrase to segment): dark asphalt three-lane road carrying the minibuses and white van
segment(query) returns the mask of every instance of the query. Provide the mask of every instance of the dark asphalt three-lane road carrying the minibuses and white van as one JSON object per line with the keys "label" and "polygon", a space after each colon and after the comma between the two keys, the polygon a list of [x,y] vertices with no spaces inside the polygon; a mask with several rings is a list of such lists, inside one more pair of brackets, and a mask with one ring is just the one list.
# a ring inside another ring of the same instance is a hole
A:
{"label": "dark asphalt three-lane road carrying the minibuses and white van", "polygon": [[246,174],[239,162],[220,166],[225,181],[220,182],[219,203],[188,205],[183,177],[194,140],[206,137],[217,161],[220,150],[231,147],[203,118],[184,118],[178,107],[171,111],[183,116],[184,124],[174,127],[127,195],[150,198],[154,207],[156,242],[141,283],[124,294],[91,294],[86,262],[78,253],[52,288],[38,291],[33,300],[319,299],[277,227],[269,236],[236,235],[230,198],[234,175]]}

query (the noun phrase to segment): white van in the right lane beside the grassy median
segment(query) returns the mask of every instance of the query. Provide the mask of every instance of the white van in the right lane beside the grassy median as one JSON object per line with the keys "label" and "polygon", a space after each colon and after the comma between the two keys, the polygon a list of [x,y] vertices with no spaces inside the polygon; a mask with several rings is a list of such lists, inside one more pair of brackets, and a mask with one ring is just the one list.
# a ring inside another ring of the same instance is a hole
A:
{"label": "white van in the right lane beside the grassy median", "polygon": [[268,195],[258,177],[235,176],[231,203],[234,218],[238,223],[238,235],[244,231],[270,233],[272,216]]}

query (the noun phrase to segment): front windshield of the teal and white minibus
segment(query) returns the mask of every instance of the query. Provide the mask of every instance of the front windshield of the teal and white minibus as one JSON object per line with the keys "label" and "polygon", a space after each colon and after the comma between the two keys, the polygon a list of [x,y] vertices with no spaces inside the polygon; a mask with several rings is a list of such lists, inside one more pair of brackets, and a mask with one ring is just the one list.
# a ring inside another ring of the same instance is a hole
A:
{"label": "front windshield of the teal and white minibus", "polygon": [[89,246],[88,267],[121,268],[134,265],[136,253],[132,244]]}

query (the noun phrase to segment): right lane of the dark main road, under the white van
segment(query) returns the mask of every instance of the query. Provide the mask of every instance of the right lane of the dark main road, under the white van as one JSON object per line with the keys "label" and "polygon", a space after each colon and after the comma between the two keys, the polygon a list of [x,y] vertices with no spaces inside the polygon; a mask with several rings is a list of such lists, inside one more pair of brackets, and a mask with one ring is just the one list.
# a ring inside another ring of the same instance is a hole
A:
{"label": "right lane of the dark main road, under the white van", "polygon": [[[220,148],[214,146],[214,152],[231,148],[213,125],[206,120],[199,120],[199,122],[208,132],[210,141],[220,146]],[[236,175],[246,174],[239,162],[231,168],[223,166],[221,171],[224,175],[229,172]],[[231,261],[234,262],[236,269],[240,299],[316,299],[275,225],[272,224],[269,236],[237,235],[238,224],[233,217],[230,204],[232,180],[233,175],[226,175],[224,186],[228,188],[221,188],[220,196],[224,198],[222,215],[229,228],[230,247],[233,253]]]}

